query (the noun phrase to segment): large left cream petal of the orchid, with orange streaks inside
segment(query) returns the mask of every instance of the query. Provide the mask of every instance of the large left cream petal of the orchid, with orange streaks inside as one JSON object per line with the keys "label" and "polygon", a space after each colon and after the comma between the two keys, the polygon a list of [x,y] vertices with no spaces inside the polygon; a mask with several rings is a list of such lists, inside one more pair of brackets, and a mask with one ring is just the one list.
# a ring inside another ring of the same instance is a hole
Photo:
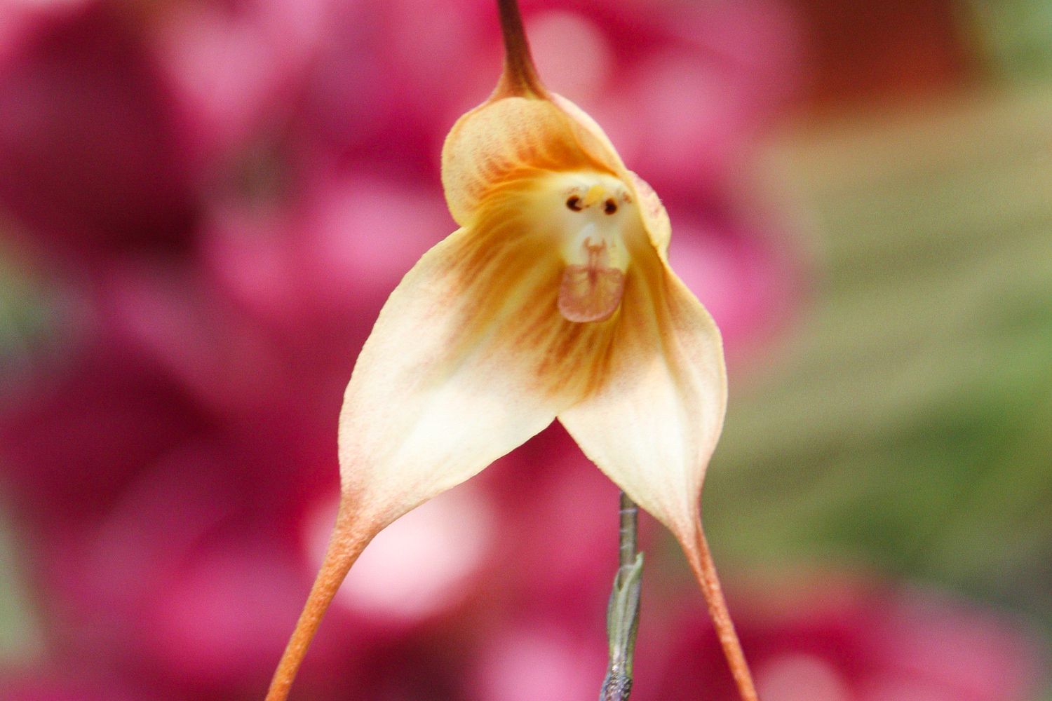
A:
{"label": "large left cream petal of the orchid, with orange streaks inside", "polygon": [[610,323],[559,313],[564,265],[518,192],[492,197],[479,227],[421,259],[358,358],[341,477],[380,525],[524,442],[599,382],[591,360]]}

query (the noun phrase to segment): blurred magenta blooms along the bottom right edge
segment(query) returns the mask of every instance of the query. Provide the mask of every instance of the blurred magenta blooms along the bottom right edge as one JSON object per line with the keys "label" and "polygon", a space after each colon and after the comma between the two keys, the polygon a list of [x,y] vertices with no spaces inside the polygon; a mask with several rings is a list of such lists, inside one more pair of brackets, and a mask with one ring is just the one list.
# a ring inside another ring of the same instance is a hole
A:
{"label": "blurred magenta blooms along the bottom right edge", "polygon": [[[993,612],[858,577],[784,584],[740,619],[765,701],[1031,701],[1045,681],[1047,651]],[[703,684],[713,700],[735,698],[710,631],[664,648],[641,642],[640,665],[640,701],[696,698]],[[662,672],[645,688],[646,669]]]}

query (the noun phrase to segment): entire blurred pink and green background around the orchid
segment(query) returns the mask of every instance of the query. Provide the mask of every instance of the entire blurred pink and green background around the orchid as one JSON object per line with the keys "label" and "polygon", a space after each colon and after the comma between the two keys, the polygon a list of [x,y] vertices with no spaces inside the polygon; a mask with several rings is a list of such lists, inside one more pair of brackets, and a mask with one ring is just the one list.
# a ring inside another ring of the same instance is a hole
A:
{"label": "entire blurred pink and green background around the orchid", "polygon": [[[523,9],[724,330],[705,521],[764,699],[1052,699],[1052,3]],[[0,699],[262,698],[494,15],[0,0]],[[294,696],[593,699],[615,540],[553,427],[370,545]],[[633,700],[730,701],[643,540]]]}

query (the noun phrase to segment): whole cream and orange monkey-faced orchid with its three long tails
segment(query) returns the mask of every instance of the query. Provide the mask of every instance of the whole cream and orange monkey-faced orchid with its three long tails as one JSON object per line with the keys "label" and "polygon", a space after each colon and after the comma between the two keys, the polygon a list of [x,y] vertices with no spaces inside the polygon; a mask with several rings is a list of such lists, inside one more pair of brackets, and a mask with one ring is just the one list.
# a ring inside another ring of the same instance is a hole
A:
{"label": "whole cream and orange monkey-faced orchid with its three long tails", "polygon": [[340,415],[341,504],[275,673],[282,701],[358,555],[388,523],[563,424],[679,539],[756,699],[699,517],[726,407],[720,332],[668,266],[669,222],[599,126],[545,89],[513,0],[504,73],[442,153],[460,229],[380,312]]}

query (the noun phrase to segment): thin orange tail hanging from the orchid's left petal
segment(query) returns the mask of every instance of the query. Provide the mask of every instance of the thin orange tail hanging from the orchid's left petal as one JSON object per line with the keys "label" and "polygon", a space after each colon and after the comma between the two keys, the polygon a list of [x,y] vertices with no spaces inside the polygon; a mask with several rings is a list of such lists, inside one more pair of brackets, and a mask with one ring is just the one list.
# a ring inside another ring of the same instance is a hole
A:
{"label": "thin orange tail hanging from the orchid's left petal", "polygon": [[292,680],[296,679],[296,673],[307,654],[307,647],[322,622],[322,616],[332,602],[332,597],[347,576],[350,565],[376,535],[370,529],[362,529],[361,523],[348,515],[348,511],[341,501],[328,549],[325,551],[325,559],[322,561],[313,586],[310,587],[310,594],[296,623],[296,630],[292,631],[292,637],[289,638],[278,668],[274,673],[270,688],[266,693],[266,701],[285,701],[288,698]]}

